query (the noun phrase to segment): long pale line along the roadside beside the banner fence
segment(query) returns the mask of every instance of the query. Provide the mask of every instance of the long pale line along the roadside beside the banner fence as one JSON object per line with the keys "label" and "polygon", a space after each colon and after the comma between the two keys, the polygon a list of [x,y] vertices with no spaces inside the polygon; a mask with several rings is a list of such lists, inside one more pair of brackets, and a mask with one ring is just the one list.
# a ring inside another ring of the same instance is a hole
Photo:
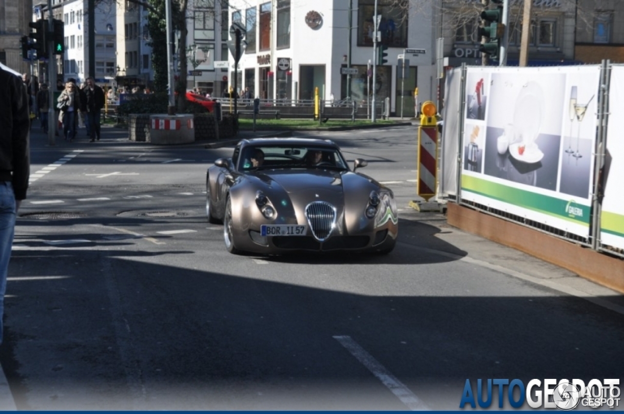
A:
{"label": "long pale line along the roadside beside the banner fence", "polygon": [[478,259],[473,259],[468,256],[459,256],[459,254],[448,253],[446,251],[412,246],[411,244],[404,243],[402,241],[399,241],[397,243],[401,244],[401,246],[406,246],[407,248],[411,248],[414,250],[421,250],[426,253],[439,254],[440,256],[445,256],[447,258],[455,259],[458,261],[467,262],[470,264],[477,264],[481,267],[487,267],[487,269],[492,269],[493,271],[507,274],[508,276],[517,277],[518,279],[522,279],[523,281],[533,282],[535,284],[539,284],[540,286],[550,287],[550,289],[553,289],[555,291],[567,293],[570,296],[576,296],[580,299],[585,299],[585,301],[592,302],[593,304],[596,304],[598,306],[606,307],[607,309],[611,309],[618,314],[624,315],[624,306],[616,305],[612,302],[602,299],[602,297],[579,291],[578,289],[574,289],[573,287],[563,286],[562,284],[559,284],[554,280],[551,281],[549,279],[538,279],[537,277],[529,276],[528,274],[507,269],[507,267],[499,266],[497,264],[492,264]]}

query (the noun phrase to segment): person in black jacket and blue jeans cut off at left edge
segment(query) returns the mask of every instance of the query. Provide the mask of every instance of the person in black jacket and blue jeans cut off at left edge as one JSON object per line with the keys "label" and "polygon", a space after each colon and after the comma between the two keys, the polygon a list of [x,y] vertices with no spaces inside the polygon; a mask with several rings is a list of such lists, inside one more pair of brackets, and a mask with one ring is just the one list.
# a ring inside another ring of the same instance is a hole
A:
{"label": "person in black jacket and blue jeans cut off at left edge", "polygon": [[0,68],[0,344],[4,293],[17,209],[30,175],[28,95],[22,79]]}

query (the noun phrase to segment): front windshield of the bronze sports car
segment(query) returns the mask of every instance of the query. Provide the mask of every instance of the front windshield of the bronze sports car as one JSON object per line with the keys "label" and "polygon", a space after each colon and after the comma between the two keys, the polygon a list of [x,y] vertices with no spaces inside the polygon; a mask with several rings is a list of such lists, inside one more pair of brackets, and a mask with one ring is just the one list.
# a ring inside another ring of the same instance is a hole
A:
{"label": "front windshield of the bronze sports car", "polygon": [[254,145],[243,149],[238,170],[277,168],[333,168],[348,170],[342,154],[333,147],[313,145]]}

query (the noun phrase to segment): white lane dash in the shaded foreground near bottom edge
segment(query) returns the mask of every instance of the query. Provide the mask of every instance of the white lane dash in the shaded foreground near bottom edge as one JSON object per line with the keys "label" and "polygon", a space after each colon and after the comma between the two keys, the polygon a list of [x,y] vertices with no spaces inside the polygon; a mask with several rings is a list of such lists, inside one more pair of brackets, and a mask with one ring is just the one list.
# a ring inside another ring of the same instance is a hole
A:
{"label": "white lane dash in the shaded foreground near bottom edge", "polygon": [[370,372],[373,373],[375,377],[377,377],[383,385],[388,387],[388,389],[396,395],[402,403],[406,405],[412,411],[416,410],[429,410],[429,407],[422,402],[422,400],[416,397],[416,394],[412,393],[409,388],[407,388],[404,383],[399,381],[399,378],[394,377],[378,360],[374,359],[373,355],[369,354],[364,350],[363,347],[359,346],[357,342],[355,342],[349,336],[337,335],[334,336],[334,339],[340,342],[343,347],[345,347],[351,355],[353,355],[359,362],[364,365],[364,367],[368,368]]}

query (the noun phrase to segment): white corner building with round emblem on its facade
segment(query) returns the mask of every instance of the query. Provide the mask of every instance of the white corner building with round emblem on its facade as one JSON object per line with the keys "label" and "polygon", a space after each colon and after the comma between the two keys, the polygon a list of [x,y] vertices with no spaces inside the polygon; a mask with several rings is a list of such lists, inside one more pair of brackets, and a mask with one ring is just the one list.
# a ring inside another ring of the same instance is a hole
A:
{"label": "white corner building with round emblem on its facade", "polygon": [[[376,90],[378,101],[389,97],[391,112],[414,115],[414,89],[419,102],[434,98],[436,91],[435,56],[431,11],[398,9],[391,1],[378,1],[381,16],[381,43],[388,49],[388,62],[376,70],[367,94],[367,67],[373,61],[374,0],[233,0],[230,21],[246,27],[246,51],[240,59],[238,87],[249,87],[261,99],[313,99],[318,87],[321,99],[344,99],[351,67],[351,96],[366,102]],[[396,3],[395,3],[396,4]],[[349,8],[351,46],[349,51]],[[424,49],[424,54],[407,55],[409,74],[401,82],[397,57],[404,49]],[[230,54],[229,85],[233,86],[233,57]],[[373,87],[374,84],[374,87]]]}

